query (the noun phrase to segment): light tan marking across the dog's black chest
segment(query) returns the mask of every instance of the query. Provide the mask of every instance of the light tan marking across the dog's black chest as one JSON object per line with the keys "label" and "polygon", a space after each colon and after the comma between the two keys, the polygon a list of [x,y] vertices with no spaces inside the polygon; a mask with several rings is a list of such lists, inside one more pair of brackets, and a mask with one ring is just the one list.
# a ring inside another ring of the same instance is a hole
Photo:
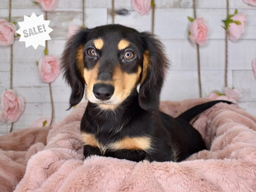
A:
{"label": "light tan marking across the dog's black chest", "polygon": [[82,141],[84,145],[90,145],[93,147],[99,148],[104,154],[106,150],[143,150],[150,151],[151,147],[151,139],[149,137],[125,137],[122,140],[116,141],[114,143],[109,143],[107,145],[102,145],[96,139],[93,134],[89,134],[86,132],[81,133]]}

